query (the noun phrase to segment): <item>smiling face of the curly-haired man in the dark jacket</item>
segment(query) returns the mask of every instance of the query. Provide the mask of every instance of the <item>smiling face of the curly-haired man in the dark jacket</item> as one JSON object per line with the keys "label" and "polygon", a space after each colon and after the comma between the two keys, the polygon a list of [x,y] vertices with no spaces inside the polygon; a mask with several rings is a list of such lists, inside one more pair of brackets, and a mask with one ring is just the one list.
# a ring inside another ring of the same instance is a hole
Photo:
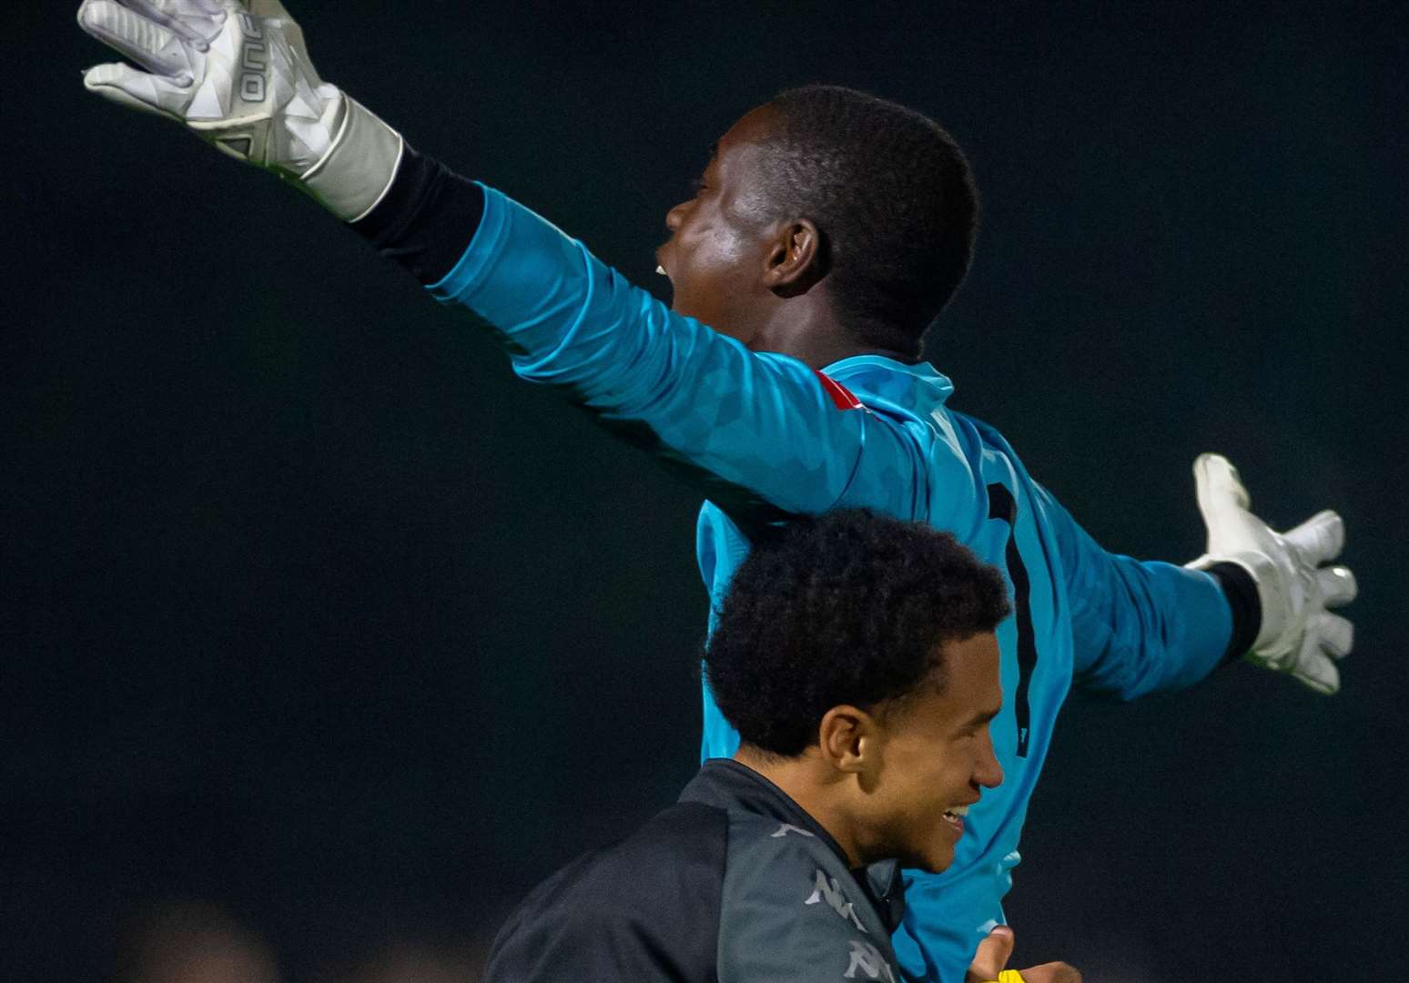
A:
{"label": "smiling face of the curly-haired man in the dark jacket", "polygon": [[876,718],[878,755],[854,814],[868,862],[898,858],[920,870],[945,869],[968,807],[1003,780],[989,735],[1003,703],[998,639],[982,632],[945,642],[944,665],[943,691],[927,687]]}

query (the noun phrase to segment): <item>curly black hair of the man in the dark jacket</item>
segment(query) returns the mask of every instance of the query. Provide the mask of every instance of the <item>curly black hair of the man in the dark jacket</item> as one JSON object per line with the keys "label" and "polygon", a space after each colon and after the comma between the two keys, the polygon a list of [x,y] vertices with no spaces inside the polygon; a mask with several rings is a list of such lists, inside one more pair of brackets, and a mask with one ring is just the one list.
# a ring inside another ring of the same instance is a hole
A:
{"label": "curly black hair of the man in the dark jacket", "polygon": [[1003,575],[948,532],[838,510],[783,525],[740,565],[706,679],[744,742],[796,756],[831,707],[943,690],[944,642],[1010,610]]}

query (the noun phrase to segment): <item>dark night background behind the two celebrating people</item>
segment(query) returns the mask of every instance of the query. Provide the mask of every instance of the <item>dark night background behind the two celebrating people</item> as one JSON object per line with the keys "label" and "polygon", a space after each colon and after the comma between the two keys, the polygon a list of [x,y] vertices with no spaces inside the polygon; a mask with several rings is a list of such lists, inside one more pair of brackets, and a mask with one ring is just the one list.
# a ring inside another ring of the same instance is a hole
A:
{"label": "dark night background behind the two celebrating people", "polygon": [[[100,101],[11,11],[0,330],[0,977],[97,979],[206,901],[283,979],[488,939],[697,748],[697,496],[311,201]],[[1409,904],[1401,4],[306,0],[314,62],[633,280],[775,90],[916,106],[985,196],[930,358],[1107,548],[1202,549],[1189,465],[1346,517],[1332,700],[1237,665],[1071,703],[1014,965],[1350,980]]]}

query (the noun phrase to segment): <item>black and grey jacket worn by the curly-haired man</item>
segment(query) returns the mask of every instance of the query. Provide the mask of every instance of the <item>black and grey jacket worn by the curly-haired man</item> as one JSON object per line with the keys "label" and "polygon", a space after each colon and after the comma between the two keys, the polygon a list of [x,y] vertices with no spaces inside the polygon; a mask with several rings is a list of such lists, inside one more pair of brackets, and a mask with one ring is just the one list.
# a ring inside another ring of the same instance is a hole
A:
{"label": "black and grey jacket worn by the curly-haired man", "polygon": [[898,865],[852,872],[772,782],[704,763],[679,803],[519,906],[486,983],[899,983]]}

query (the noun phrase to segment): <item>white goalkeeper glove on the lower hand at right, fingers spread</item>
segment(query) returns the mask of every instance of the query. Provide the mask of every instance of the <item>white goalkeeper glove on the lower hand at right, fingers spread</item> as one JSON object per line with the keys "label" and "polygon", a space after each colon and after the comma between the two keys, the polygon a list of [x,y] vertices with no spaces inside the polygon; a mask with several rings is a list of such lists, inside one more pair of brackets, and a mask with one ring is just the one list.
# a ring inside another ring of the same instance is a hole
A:
{"label": "white goalkeeper glove on the lower hand at right, fingers spread", "polygon": [[1336,659],[1344,658],[1354,641],[1350,621],[1326,610],[1355,597],[1355,577],[1347,568],[1322,566],[1344,545],[1340,515],[1317,513],[1289,532],[1274,532],[1247,510],[1247,489],[1227,458],[1200,453],[1193,477],[1209,545],[1188,566],[1237,563],[1257,584],[1262,625],[1244,658],[1333,694],[1340,689]]}

